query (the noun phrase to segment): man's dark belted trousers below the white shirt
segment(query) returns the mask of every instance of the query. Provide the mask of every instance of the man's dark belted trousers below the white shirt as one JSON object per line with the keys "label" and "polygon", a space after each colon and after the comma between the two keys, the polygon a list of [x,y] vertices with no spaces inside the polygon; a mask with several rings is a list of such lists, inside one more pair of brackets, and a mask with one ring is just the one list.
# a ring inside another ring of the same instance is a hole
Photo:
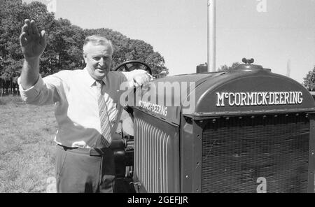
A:
{"label": "man's dark belted trousers below the white shirt", "polygon": [[115,162],[113,151],[66,148],[57,145],[57,192],[113,192]]}

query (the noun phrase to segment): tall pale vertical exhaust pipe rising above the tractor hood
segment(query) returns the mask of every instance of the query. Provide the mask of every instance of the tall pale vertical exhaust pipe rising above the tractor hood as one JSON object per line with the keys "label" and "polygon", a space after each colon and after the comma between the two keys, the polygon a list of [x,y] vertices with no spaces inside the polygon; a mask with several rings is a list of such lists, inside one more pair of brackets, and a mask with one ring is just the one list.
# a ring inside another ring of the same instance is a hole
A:
{"label": "tall pale vertical exhaust pipe rising above the tractor hood", "polygon": [[208,71],[216,71],[216,0],[208,0]]}

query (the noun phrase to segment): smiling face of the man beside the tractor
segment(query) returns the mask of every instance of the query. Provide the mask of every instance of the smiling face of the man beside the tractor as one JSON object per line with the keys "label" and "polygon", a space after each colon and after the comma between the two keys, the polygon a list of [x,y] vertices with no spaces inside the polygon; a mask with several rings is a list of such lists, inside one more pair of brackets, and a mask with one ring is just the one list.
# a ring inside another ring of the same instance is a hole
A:
{"label": "smiling face of the man beside the tractor", "polygon": [[111,69],[111,60],[113,51],[109,45],[94,45],[87,43],[85,45],[85,54],[83,55],[87,71],[95,80],[102,80]]}

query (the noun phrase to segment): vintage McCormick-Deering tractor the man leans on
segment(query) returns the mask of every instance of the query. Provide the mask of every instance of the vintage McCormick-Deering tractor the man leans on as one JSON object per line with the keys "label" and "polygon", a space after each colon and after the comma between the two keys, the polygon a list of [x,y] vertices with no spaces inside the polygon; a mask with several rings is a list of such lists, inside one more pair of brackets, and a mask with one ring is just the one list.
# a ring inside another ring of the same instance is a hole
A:
{"label": "vintage McCormick-Deering tractor the man leans on", "polygon": [[[314,99],[252,63],[134,90],[116,150],[116,192],[314,192]],[[139,67],[151,71],[141,62],[116,70]]]}

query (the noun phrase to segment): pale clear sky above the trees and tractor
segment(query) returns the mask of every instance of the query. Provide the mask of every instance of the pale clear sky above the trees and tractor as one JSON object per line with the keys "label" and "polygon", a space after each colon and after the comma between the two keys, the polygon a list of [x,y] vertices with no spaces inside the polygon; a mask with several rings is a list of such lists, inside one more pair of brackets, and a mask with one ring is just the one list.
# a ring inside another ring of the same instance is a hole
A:
{"label": "pale clear sky above the trees and tractor", "polygon": [[[146,41],[169,76],[207,62],[207,0],[41,0],[83,29]],[[315,66],[315,0],[216,0],[216,68],[243,57],[302,83]]]}

